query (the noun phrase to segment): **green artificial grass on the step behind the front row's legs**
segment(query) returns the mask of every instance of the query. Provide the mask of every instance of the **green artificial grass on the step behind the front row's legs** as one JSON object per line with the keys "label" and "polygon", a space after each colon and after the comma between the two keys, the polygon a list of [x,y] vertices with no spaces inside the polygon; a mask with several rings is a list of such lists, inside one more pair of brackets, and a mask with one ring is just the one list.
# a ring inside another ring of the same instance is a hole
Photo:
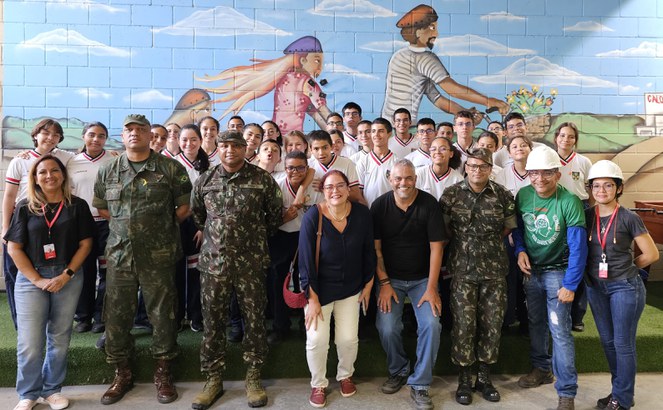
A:
{"label": "green artificial grass on the step behind the front row's legs", "polygon": [[[638,371],[663,372],[663,282],[647,285],[647,306],[638,326]],[[585,331],[575,333],[576,367],[579,372],[606,372],[607,363],[603,355],[598,333],[591,312],[585,316]],[[293,324],[293,329],[296,329]],[[359,356],[355,364],[358,377],[387,376],[386,356],[377,337],[377,331],[370,334],[369,340],[359,343]],[[151,381],[154,361],[149,354],[151,335],[147,331],[133,331],[136,340],[136,360],[134,371],[141,382]],[[264,378],[310,377],[306,365],[304,337],[297,331],[280,345],[270,348],[267,363],[263,369]],[[113,368],[106,364],[105,356],[95,349],[99,335],[92,333],[74,333],[69,350],[69,368],[66,384],[106,384],[113,378]],[[176,359],[175,375],[177,380],[203,380],[199,370],[199,348],[202,333],[191,330],[178,336],[180,355]],[[415,336],[404,334],[406,351],[414,361],[416,346]],[[451,338],[448,332],[442,332],[440,351],[435,366],[435,374],[455,374],[456,369],[450,360]],[[224,378],[241,380],[246,367],[242,362],[241,344],[228,344],[227,369]],[[329,350],[328,376],[336,373],[336,352],[332,345]],[[500,346],[500,360],[494,366],[495,373],[526,373],[529,364],[529,339],[518,334],[517,326],[503,332]],[[16,331],[9,318],[6,295],[0,294],[0,386],[15,385],[16,377]]]}

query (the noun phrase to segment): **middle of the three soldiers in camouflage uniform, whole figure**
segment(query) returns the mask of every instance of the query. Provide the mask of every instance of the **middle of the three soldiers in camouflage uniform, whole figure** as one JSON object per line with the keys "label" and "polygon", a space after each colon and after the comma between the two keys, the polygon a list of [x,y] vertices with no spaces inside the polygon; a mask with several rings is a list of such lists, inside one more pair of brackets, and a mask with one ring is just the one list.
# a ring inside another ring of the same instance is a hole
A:
{"label": "middle of the three soldiers in camouflage uniform, whole figure", "polygon": [[198,262],[204,328],[200,366],[207,376],[192,407],[207,409],[223,394],[225,331],[233,289],[246,326],[246,394],[249,406],[260,407],[267,404],[260,383],[267,356],[267,238],[282,224],[283,199],[272,177],[244,160],[247,144],[241,133],[226,131],[217,143],[221,164],[198,178],[191,197],[194,222],[204,232]]}

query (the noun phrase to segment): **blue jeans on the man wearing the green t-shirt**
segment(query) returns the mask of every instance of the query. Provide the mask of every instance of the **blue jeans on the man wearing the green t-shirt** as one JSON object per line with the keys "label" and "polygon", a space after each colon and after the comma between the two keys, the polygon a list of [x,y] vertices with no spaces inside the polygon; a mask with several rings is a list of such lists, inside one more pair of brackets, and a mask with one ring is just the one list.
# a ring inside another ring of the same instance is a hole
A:
{"label": "blue jeans on the man wearing the green t-shirt", "polygon": [[[532,271],[525,283],[529,318],[530,359],[532,366],[552,371],[557,378],[555,389],[560,397],[575,397],[578,372],[575,345],[571,334],[571,303],[560,303],[557,291],[562,288],[564,271]],[[549,353],[552,335],[553,353]]]}

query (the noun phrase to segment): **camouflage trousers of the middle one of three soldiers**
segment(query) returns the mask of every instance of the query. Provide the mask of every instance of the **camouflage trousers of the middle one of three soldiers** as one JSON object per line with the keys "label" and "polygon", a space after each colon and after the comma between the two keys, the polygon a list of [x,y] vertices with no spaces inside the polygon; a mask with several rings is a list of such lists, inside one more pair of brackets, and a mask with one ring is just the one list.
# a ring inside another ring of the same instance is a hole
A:
{"label": "camouflage trousers of the middle one of three soldiers", "polygon": [[260,367],[267,357],[265,273],[258,271],[211,275],[201,271],[200,289],[204,328],[200,345],[200,370],[209,374],[225,369],[226,324],[233,289],[237,293],[239,309],[244,319],[244,362]]}

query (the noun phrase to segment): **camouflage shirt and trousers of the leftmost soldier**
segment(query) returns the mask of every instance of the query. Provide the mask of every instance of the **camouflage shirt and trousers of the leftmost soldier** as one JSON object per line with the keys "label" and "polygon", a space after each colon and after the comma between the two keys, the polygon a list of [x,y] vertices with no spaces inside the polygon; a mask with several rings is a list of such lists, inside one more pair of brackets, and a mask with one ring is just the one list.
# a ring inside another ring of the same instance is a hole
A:
{"label": "camouflage shirt and trousers of the leftmost soldier", "polygon": [[136,172],[126,154],[99,170],[92,205],[110,212],[106,260],[106,355],[109,363],[130,358],[130,331],[140,285],[154,326],[152,354],[177,355],[175,262],[181,257],[175,208],[188,205],[191,182],[182,165],[151,152]]}

